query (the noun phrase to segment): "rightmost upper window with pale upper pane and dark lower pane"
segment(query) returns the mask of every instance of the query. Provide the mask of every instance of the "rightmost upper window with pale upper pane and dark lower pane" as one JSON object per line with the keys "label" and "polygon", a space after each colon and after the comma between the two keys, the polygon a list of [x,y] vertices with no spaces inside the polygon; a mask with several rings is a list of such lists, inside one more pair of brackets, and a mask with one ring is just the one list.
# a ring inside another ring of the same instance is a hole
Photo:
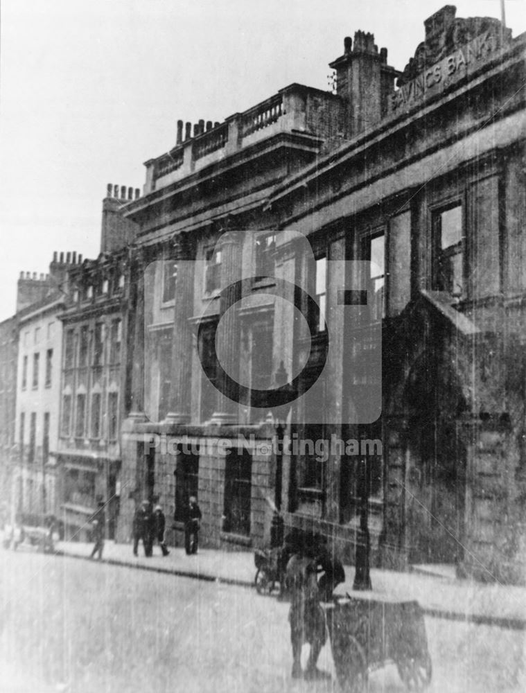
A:
{"label": "rightmost upper window with pale upper pane and dark lower pane", "polygon": [[464,290],[464,234],[462,204],[436,211],[432,216],[433,288],[461,296]]}

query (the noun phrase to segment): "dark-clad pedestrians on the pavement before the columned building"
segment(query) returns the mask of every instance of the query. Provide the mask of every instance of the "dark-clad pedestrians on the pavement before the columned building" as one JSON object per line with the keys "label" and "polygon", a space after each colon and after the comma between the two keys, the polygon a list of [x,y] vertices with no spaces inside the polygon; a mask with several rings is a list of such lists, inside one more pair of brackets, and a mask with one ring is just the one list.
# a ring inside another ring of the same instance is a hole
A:
{"label": "dark-clad pedestrians on the pavement before the columned building", "polygon": [[[184,547],[187,554],[195,554],[198,551],[198,533],[201,520],[201,510],[195,496],[191,496],[185,509],[184,521]],[[99,500],[97,509],[90,518],[91,538],[94,547],[91,558],[102,559],[105,538],[105,502]],[[150,558],[153,555],[153,547],[157,542],[163,556],[168,556],[170,551],[166,546],[165,534],[166,517],[160,505],[152,507],[149,500],[143,500],[137,508],[133,518],[133,555],[139,555],[139,543],[142,542],[144,555]]]}

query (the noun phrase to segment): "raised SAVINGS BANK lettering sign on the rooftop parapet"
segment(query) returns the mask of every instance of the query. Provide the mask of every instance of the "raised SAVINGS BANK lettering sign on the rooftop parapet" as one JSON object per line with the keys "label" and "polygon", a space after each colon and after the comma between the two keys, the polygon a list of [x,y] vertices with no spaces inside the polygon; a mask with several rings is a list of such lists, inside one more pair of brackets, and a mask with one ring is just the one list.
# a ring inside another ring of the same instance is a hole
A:
{"label": "raised SAVINGS BANK lettering sign on the rooftop parapet", "polygon": [[500,36],[486,31],[467,44],[455,49],[435,65],[424,70],[391,96],[390,111],[409,109],[418,101],[429,98],[475,71],[486,56],[500,47]]}

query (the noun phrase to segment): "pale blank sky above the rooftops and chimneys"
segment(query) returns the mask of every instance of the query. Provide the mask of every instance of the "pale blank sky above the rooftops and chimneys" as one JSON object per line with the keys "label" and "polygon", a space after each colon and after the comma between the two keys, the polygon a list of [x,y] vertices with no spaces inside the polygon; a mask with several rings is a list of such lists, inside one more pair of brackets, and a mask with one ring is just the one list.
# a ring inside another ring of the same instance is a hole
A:
{"label": "pale blank sky above the rooftops and chimneys", "polygon": [[[403,69],[441,0],[1,0],[0,320],[19,272],[96,257],[107,183],[142,188],[176,123],[222,121],[292,82],[328,89],[358,29]],[[458,0],[458,17],[500,17]],[[506,1],[526,30],[526,0]]]}

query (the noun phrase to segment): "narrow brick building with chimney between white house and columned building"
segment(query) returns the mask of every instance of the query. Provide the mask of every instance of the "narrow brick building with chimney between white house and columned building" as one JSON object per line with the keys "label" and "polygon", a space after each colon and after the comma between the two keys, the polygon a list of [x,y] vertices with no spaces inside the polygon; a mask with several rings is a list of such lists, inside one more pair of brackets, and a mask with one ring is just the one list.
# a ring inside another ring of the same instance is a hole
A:
{"label": "narrow brick building with chimney between white house and columned building", "polygon": [[133,224],[121,208],[139,191],[108,186],[101,252],[69,272],[63,326],[58,505],[67,536],[86,538],[98,499],[107,501],[108,537],[116,535],[121,494],[119,435],[125,398],[129,245]]}

